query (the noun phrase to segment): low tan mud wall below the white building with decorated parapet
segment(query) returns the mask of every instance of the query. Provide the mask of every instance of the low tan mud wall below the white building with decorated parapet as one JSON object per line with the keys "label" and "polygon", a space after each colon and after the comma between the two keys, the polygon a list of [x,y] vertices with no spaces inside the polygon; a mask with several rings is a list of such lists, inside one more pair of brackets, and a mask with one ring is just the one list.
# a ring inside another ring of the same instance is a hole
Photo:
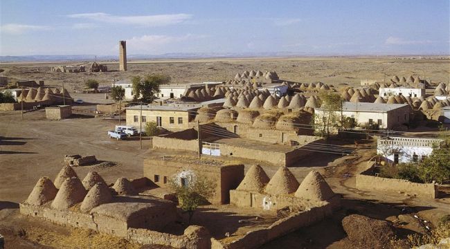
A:
{"label": "low tan mud wall below the white building with decorated parapet", "polygon": [[366,172],[357,175],[357,189],[404,192],[418,197],[435,199],[438,196],[438,187],[433,183],[412,183],[402,179],[383,178],[379,176],[369,176],[372,171],[370,167]]}

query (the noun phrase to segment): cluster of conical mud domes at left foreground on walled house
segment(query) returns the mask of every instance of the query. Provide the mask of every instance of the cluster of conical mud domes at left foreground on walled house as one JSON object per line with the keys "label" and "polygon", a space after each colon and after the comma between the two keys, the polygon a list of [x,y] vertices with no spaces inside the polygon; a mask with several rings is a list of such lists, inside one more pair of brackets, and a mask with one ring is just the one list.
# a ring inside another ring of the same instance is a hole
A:
{"label": "cluster of conical mud domes at left foreground on walled house", "polygon": [[98,205],[110,203],[115,194],[137,194],[127,178],[118,178],[112,190],[97,172],[89,172],[80,181],[69,165],[64,166],[57,174],[54,183],[47,178],[39,178],[33,191],[26,199],[29,205],[48,205],[57,210],[68,210],[77,203],[81,212],[89,212]]}

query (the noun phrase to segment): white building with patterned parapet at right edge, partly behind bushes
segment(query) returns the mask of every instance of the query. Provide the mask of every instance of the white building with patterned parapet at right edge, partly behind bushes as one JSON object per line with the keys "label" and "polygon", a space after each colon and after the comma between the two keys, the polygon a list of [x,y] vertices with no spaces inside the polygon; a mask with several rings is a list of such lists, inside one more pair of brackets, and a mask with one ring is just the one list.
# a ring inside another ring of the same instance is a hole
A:
{"label": "white building with patterned parapet at right edge, partly behind bushes", "polygon": [[377,141],[377,154],[393,163],[411,163],[424,160],[440,146],[443,140],[434,138],[403,138],[389,136]]}

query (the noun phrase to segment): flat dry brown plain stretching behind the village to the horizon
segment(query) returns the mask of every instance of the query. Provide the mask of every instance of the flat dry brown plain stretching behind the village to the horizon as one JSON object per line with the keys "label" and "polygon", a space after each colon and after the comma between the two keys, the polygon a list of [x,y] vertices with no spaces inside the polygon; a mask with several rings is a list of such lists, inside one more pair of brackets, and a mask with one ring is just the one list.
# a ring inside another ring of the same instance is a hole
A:
{"label": "flat dry brown plain stretching behind the village to the horizon", "polygon": [[246,59],[170,59],[131,61],[128,71],[120,72],[115,62],[105,62],[106,73],[55,73],[51,66],[80,65],[89,62],[57,63],[3,63],[4,75],[22,80],[45,80],[48,85],[81,90],[83,82],[96,79],[100,84],[111,84],[114,79],[127,80],[135,75],[164,73],[172,83],[215,82],[233,79],[236,73],[276,71],[282,80],[294,82],[321,81],[327,84],[358,85],[361,79],[386,80],[393,75],[408,77],[420,75],[432,82],[449,82],[450,59],[406,59],[400,57],[303,57],[303,58],[246,58]]}

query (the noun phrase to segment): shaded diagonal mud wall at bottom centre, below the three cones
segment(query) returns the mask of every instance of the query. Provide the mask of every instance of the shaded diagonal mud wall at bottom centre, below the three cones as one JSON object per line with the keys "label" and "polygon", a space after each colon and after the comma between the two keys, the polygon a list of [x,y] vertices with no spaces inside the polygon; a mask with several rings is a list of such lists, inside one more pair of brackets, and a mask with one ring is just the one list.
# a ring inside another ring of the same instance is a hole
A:
{"label": "shaded diagonal mud wall at bottom centre, below the three cones", "polygon": [[247,232],[243,237],[235,239],[230,243],[222,243],[211,239],[211,248],[213,249],[247,249],[259,248],[264,243],[281,237],[289,232],[294,232],[299,228],[304,228],[318,221],[325,219],[332,214],[332,207],[326,204],[320,207],[311,208],[306,211],[296,212],[274,222],[269,228],[262,228]]}

